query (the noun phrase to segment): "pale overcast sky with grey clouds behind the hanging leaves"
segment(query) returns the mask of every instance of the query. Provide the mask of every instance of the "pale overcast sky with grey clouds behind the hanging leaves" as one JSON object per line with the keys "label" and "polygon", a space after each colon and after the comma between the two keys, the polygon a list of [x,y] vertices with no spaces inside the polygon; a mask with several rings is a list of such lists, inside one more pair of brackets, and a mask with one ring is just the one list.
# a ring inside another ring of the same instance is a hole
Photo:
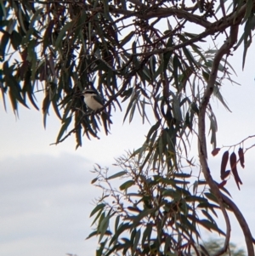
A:
{"label": "pale overcast sky with grey clouds behind the hanging leaves", "polygon": [[[224,83],[221,91],[232,113],[213,100],[218,118],[219,146],[233,145],[255,134],[254,51],[254,47],[248,51],[244,72],[241,71],[241,54],[229,59],[238,73],[234,78],[241,83],[241,86]],[[32,107],[27,110],[20,106],[20,118],[17,119],[10,105],[7,113],[4,111],[0,99],[0,115],[0,255],[94,255],[96,240],[84,241],[91,232],[92,219],[88,216],[94,208],[94,197],[100,194],[90,185],[94,179],[90,170],[97,162],[110,167],[112,172],[118,171],[111,167],[114,158],[128,149],[138,148],[149,124],[142,125],[136,117],[131,125],[122,125],[123,115],[113,113],[111,134],[106,137],[102,133],[101,139],[84,138],[82,148],[75,151],[72,137],[60,145],[50,145],[56,139],[60,125],[54,113],[48,118],[46,130],[42,126],[42,113]],[[196,145],[196,139],[194,143]],[[254,143],[255,139],[246,146]],[[209,156],[211,172],[217,180],[221,153],[218,157]],[[253,236],[254,154],[255,148],[247,152],[246,168],[240,170],[241,191],[233,177],[227,185],[250,224]],[[232,241],[244,245],[235,221],[232,222]]]}

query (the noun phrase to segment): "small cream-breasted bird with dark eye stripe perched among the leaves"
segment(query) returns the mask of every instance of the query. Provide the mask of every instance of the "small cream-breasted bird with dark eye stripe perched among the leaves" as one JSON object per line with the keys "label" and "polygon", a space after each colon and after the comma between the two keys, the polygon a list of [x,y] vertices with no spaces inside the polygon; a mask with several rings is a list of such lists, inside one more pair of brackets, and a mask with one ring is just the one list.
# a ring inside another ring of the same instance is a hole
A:
{"label": "small cream-breasted bird with dark eye stripe perched among the leaves", "polygon": [[[84,97],[85,105],[92,111],[98,111],[102,107],[104,107],[104,100],[100,97],[99,93],[92,89],[88,88],[82,91],[82,95]],[[105,127],[105,133],[108,134],[108,127],[110,127],[111,116],[105,110],[101,111],[101,117]]]}

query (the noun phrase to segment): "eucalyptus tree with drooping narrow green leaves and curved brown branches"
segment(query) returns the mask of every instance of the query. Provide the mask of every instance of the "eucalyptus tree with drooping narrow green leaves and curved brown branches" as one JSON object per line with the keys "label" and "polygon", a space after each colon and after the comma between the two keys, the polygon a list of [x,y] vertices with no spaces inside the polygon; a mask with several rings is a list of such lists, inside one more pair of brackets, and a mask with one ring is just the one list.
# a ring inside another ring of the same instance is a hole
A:
{"label": "eucalyptus tree with drooping narrow green leaves and curved brown branches", "polygon": [[[151,124],[144,144],[117,160],[121,172],[109,177],[95,168],[93,183],[103,189],[91,213],[97,255],[207,254],[200,227],[225,236],[221,255],[229,247],[233,212],[254,256],[252,233],[225,188],[232,179],[228,163],[241,185],[237,166],[244,168],[249,138],[225,149],[218,184],[207,163],[206,136],[209,130],[216,156],[221,148],[210,100],[228,109],[220,88],[234,82],[229,55],[241,46],[245,67],[254,9],[253,0],[0,1],[0,88],[15,114],[19,105],[39,110],[36,97],[43,94],[44,126],[52,107],[62,123],[56,144],[74,134],[77,147],[82,136],[98,138],[101,123],[108,134],[104,110],[114,115],[125,105],[124,121],[139,112]],[[88,110],[84,88],[104,97],[101,110]],[[190,156],[194,137],[198,149]],[[111,179],[120,177],[125,182],[116,190]],[[219,211],[225,229],[217,225]]]}

